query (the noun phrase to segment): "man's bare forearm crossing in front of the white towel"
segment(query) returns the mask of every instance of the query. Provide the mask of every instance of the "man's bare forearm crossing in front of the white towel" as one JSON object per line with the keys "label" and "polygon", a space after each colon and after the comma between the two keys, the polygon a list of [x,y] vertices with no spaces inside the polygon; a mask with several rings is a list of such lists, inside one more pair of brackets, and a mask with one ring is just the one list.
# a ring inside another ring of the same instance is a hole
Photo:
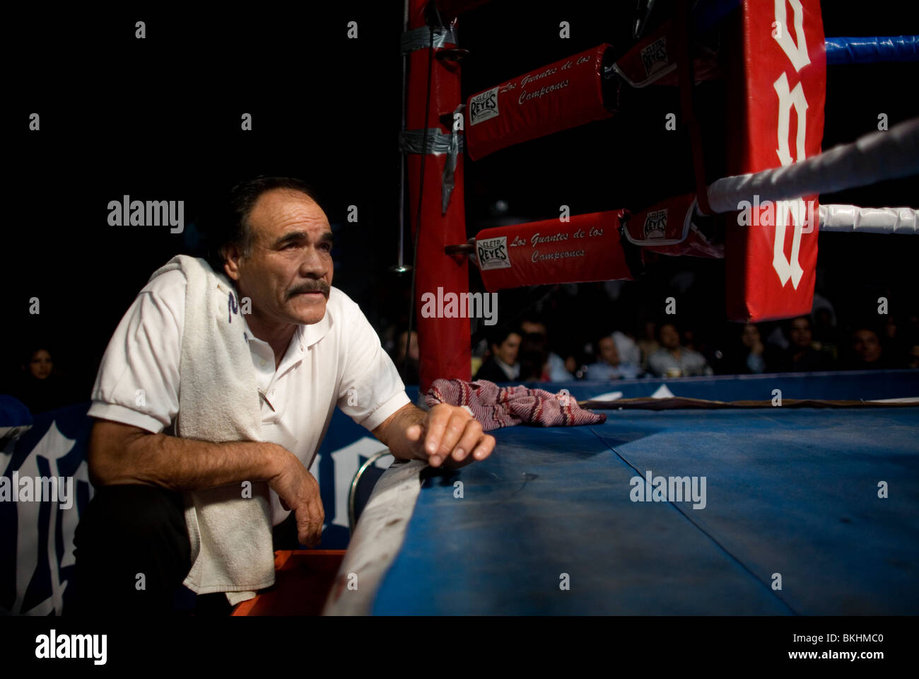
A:
{"label": "man's bare forearm crossing in front of the white towel", "polygon": [[102,485],[142,483],[178,491],[265,481],[278,474],[287,453],[274,443],[211,443],[149,432],[115,436],[116,427],[97,422],[93,431],[90,466]]}

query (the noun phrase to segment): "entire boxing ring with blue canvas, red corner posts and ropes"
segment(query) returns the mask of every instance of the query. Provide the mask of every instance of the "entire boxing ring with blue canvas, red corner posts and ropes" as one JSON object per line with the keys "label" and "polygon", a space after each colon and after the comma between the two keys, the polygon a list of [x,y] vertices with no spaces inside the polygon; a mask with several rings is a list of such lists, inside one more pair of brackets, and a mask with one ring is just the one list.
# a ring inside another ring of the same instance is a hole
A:
{"label": "entire boxing ring with blue canvas, red corner posts and ropes", "polygon": [[[728,319],[760,322],[810,313],[821,231],[919,233],[910,207],[820,203],[823,193],[919,173],[919,119],[889,130],[884,121],[878,132],[822,147],[828,65],[916,61],[915,37],[826,38],[818,0],[677,0],[674,16],[648,26],[640,19],[624,52],[596,45],[463,100],[457,17],[482,4],[405,3],[401,149],[414,260],[403,264],[401,230],[398,269],[413,276],[422,392],[437,378],[471,379],[472,303],[468,316],[417,313],[424,293],[469,294],[470,262],[493,293],[639,280],[647,252],[725,259]],[[721,29],[727,58],[719,61],[706,36]],[[730,94],[727,157],[704,143],[701,83]],[[678,131],[674,155],[689,161],[682,192],[630,205],[629,187],[613,187],[603,212],[562,205],[560,216],[470,237],[465,163],[615,119],[641,107],[649,87],[667,89],[678,111],[648,114]],[[585,407],[603,409],[607,420],[494,430],[494,454],[455,471],[392,465],[360,516],[323,613],[919,612],[919,375],[550,388],[595,399]],[[616,406],[635,397],[760,403]],[[857,403],[800,407],[795,399]],[[877,399],[901,400],[868,403]]]}

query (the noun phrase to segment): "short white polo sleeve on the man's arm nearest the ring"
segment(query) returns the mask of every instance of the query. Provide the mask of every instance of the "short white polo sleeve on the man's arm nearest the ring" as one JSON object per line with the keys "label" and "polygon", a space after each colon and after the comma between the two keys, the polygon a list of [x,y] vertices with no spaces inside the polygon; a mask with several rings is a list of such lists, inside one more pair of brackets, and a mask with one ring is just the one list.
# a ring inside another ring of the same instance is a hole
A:
{"label": "short white polo sleeve on the man's arm nearest the ring", "polygon": [[346,299],[345,364],[338,389],[338,408],[368,431],[376,429],[411,399],[380,337],[367,316]]}

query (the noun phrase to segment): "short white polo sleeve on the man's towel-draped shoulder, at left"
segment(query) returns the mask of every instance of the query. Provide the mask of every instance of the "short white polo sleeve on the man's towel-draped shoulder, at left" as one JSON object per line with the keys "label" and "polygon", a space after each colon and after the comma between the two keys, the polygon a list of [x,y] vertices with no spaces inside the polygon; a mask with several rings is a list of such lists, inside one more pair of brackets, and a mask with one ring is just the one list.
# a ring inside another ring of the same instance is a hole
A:
{"label": "short white polo sleeve on the man's towel-draped shoulder, at left", "polygon": [[176,417],[186,286],[185,274],[170,270],[138,293],[102,357],[90,417],[153,433]]}

